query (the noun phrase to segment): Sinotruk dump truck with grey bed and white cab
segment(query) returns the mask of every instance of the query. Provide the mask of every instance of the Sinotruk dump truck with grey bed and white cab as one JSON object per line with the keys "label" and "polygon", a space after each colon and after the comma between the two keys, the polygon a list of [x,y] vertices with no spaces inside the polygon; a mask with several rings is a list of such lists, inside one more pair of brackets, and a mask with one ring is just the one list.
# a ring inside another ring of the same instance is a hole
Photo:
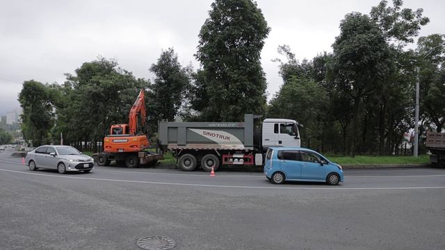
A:
{"label": "Sinotruk dump truck with grey bed and white cab", "polygon": [[216,171],[221,165],[262,165],[268,147],[300,147],[298,122],[246,114],[244,122],[159,122],[159,148],[180,169]]}

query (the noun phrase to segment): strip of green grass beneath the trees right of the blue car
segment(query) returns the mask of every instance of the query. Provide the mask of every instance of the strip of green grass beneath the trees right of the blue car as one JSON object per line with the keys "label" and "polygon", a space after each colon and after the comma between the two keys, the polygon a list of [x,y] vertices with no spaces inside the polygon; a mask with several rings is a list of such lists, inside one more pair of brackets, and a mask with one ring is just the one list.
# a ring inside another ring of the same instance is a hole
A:
{"label": "strip of green grass beneath the trees right of the blue car", "polygon": [[341,156],[327,158],[340,165],[428,164],[430,156]]}

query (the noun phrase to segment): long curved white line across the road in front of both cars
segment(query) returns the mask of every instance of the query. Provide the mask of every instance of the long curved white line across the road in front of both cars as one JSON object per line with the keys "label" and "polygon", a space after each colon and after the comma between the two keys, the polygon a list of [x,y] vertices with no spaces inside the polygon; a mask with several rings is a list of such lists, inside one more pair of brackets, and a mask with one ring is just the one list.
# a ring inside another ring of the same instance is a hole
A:
{"label": "long curved white line across the road in front of both cars", "polygon": [[159,184],[159,185],[181,185],[181,186],[191,186],[191,187],[207,187],[207,188],[250,188],[250,189],[280,189],[280,190],[422,190],[422,189],[442,189],[445,186],[438,187],[401,187],[401,188],[295,188],[295,187],[260,187],[260,186],[238,186],[238,185],[208,185],[208,184],[193,184],[193,183],[167,183],[167,182],[156,182],[156,181],[131,181],[131,180],[118,180],[118,179],[108,179],[108,178],[87,178],[87,177],[74,177],[74,176],[56,176],[49,174],[35,174],[27,172],[19,172],[9,169],[0,169],[4,172],[13,172],[18,174],[30,174],[36,176],[48,176],[56,178],[73,178],[81,180],[92,180],[92,181],[114,181],[121,183],[145,183],[145,184]]}

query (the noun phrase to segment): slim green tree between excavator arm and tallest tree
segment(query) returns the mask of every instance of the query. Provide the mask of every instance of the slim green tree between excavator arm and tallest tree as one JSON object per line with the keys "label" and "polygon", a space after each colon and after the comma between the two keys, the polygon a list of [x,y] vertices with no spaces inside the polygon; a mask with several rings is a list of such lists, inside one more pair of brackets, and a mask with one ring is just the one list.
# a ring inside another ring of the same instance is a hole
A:
{"label": "slim green tree between excavator arm and tallest tree", "polygon": [[157,63],[149,70],[156,76],[150,86],[150,115],[154,120],[173,121],[185,101],[184,96],[190,85],[190,70],[181,66],[177,53],[172,48],[162,51]]}

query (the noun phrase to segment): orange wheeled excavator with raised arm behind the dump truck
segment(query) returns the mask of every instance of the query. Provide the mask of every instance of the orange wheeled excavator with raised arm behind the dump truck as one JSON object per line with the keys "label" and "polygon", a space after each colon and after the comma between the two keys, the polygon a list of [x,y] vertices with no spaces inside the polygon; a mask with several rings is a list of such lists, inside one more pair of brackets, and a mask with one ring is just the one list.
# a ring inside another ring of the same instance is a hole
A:
{"label": "orange wheeled excavator with raised arm behind the dump truck", "polygon": [[104,138],[104,152],[97,155],[97,165],[110,165],[111,160],[124,162],[127,167],[154,164],[163,159],[162,155],[144,151],[148,149],[147,135],[138,134],[138,116],[145,124],[145,93],[140,90],[138,98],[131,107],[129,124],[113,124],[110,134]]}

